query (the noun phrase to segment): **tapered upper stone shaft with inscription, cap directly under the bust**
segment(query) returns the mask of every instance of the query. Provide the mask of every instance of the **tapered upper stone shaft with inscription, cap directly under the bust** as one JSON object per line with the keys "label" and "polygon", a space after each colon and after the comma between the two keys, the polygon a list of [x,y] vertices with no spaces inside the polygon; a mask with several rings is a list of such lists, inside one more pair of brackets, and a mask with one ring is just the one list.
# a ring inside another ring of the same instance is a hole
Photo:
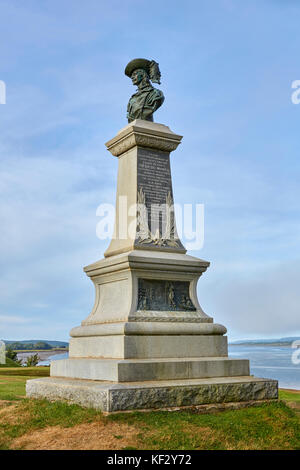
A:
{"label": "tapered upper stone shaft with inscription, cap directly under the bust", "polygon": [[115,232],[105,257],[133,249],[186,253],[176,232],[170,169],[181,139],[163,124],[137,119],[106,143],[119,170]]}

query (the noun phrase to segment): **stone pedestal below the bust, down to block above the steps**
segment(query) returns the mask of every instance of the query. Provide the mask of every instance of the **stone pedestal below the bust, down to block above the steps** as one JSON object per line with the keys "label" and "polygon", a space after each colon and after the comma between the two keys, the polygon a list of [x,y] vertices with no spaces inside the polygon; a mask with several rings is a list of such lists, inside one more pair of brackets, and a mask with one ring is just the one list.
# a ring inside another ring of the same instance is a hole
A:
{"label": "stone pedestal below the bust, down to block above the steps", "polygon": [[170,152],[180,140],[136,120],[107,142],[119,159],[115,232],[106,258],[85,268],[96,302],[71,331],[70,357],[227,355],[226,328],[197,298],[209,263],[186,255],[176,231]]}

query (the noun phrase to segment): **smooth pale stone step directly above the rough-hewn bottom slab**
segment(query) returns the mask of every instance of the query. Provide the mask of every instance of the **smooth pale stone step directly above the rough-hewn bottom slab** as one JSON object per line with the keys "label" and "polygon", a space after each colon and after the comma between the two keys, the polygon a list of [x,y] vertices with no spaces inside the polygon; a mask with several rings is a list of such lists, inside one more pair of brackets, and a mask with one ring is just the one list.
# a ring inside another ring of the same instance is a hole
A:
{"label": "smooth pale stone step directly above the rough-hewn bottom slab", "polygon": [[51,376],[136,382],[249,375],[248,359],[228,357],[164,359],[69,358],[51,362]]}

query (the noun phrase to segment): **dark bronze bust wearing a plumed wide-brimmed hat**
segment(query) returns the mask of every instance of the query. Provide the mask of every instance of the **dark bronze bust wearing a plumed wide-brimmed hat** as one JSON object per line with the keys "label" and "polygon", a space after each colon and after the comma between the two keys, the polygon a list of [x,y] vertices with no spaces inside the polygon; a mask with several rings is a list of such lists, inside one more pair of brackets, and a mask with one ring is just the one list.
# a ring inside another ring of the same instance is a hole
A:
{"label": "dark bronze bust wearing a plumed wide-brimmed hat", "polygon": [[125,68],[125,75],[138,87],[127,106],[128,122],[135,119],[153,121],[153,113],[163,104],[162,91],[154,88],[150,82],[160,84],[160,70],[154,60],[134,59]]}

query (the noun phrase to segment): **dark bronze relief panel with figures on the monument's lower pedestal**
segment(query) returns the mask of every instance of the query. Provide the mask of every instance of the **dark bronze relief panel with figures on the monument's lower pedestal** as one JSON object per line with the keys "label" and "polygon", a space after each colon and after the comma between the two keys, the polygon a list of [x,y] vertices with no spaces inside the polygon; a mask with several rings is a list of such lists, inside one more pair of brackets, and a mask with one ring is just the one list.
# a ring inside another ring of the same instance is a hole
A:
{"label": "dark bronze relief panel with figures on the monument's lower pedestal", "polygon": [[138,280],[138,310],[196,311],[189,281]]}

